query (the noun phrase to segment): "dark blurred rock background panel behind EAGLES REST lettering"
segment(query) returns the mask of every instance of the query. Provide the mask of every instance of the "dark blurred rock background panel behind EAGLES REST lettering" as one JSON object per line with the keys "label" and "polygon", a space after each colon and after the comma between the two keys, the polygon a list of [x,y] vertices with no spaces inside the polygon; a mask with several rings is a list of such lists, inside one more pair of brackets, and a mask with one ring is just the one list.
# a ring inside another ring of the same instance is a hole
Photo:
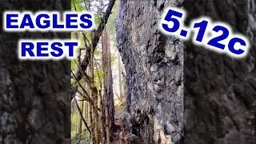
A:
{"label": "dark blurred rock background panel behind EAGLES REST lettering", "polygon": [[[1,14],[3,10],[70,9],[69,1],[57,1],[56,4],[55,2],[3,1]],[[70,34],[1,31],[0,143],[68,143],[70,142],[70,62],[21,62],[17,55],[19,38],[70,38]]]}

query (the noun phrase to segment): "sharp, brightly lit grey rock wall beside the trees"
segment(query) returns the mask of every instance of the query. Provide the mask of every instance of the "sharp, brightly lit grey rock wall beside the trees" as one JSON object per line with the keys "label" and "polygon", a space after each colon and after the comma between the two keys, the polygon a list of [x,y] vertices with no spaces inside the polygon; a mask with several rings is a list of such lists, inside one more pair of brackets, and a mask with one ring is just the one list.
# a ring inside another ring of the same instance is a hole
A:
{"label": "sharp, brightly lit grey rock wall beside the trees", "polygon": [[126,120],[144,143],[182,140],[183,43],[158,31],[160,12],[178,1],[121,0],[118,50],[126,67]]}

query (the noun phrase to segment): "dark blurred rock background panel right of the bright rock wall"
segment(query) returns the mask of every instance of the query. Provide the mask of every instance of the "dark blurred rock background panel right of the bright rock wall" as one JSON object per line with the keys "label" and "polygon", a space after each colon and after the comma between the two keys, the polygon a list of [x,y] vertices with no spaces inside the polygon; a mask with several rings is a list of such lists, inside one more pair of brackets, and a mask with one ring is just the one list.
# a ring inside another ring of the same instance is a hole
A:
{"label": "dark blurred rock background panel right of the bright rock wall", "polygon": [[235,60],[187,44],[184,127],[187,144],[256,142],[255,0],[184,0],[188,18],[227,22],[250,38],[250,54]]}

